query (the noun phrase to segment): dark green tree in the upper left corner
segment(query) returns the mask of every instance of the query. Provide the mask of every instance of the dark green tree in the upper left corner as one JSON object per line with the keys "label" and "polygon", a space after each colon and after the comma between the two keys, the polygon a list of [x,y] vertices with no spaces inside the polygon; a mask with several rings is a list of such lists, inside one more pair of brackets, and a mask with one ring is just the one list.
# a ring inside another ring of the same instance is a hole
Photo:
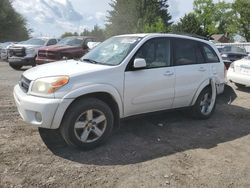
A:
{"label": "dark green tree in the upper left corner", "polygon": [[0,1],[0,41],[21,41],[29,37],[24,18],[18,14],[9,0]]}

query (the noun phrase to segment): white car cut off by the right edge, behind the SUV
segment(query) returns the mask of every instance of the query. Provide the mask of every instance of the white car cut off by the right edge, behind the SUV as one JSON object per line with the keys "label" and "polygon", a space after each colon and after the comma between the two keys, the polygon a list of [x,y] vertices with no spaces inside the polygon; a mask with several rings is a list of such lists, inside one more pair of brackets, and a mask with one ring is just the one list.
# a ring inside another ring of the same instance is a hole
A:
{"label": "white car cut off by the right edge, behind the SUV", "polygon": [[238,88],[250,86],[250,56],[233,62],[227,72],[227,79]]}

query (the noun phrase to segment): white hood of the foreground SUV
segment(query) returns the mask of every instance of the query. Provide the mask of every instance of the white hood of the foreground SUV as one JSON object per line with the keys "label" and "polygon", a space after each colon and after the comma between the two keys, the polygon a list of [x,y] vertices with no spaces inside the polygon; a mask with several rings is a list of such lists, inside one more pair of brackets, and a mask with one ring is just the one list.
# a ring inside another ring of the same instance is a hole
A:
{"label": "white hood of the foreground SUV", "polygon": [[29,80],[36,80],[49,76],[78,76],[80,74],[88,74],[110,69],[112,66],[90,64],[76,60],[58,61],[54,63],[39,65],[31,68],[23,73],[23,76]]}

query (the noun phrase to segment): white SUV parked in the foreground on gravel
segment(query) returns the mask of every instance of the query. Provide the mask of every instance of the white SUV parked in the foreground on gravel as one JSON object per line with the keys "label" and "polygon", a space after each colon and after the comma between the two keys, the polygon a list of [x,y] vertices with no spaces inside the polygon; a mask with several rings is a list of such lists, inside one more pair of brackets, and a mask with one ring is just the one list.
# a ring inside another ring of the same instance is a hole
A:
{"label": "white SUV parked in the foreground on gravel", "polygon": [[206,119],[224,90],[224,64],[208,41],[174,34],[112,37],[80,60],[23,73],[14,88],[22,118],[56,129],[69,145],[103,143],[121,118],[191,107]]}

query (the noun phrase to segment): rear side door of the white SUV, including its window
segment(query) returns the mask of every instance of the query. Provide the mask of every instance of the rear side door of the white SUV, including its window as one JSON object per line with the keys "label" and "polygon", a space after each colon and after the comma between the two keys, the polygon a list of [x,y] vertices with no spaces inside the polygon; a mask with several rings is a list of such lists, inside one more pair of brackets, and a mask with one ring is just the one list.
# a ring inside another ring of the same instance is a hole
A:
{"label": "rear side door of the white SUV, including its window", "polygon": [[195,92],[210,75],[199,42],[190,39],[173,39],[176,73],[174,108],[189,106]]}

